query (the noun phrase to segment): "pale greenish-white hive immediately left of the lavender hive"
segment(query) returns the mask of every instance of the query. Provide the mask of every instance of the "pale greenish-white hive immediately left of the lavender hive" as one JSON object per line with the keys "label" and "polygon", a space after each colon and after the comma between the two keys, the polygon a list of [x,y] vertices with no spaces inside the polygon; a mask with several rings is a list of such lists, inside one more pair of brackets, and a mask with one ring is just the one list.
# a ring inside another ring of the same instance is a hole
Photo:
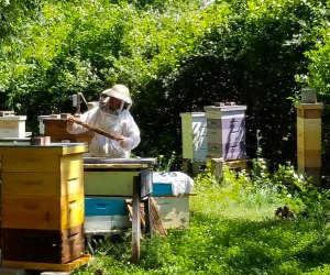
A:
{"label": "pale greenish-white hive immediately left of the lavender hive", "polygon": [[183,158],[205,162],[207,155],[207,120],[205,112],[183,112]]}

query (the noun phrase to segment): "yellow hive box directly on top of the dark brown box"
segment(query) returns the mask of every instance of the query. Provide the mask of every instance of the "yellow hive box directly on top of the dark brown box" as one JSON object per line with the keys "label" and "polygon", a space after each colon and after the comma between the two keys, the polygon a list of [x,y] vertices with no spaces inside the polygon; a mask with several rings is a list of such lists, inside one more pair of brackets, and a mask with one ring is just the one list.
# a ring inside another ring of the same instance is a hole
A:
{"label": "yellow hive box directly on top of the dark brown box", "polygon": [[1,227],[63,230],[84,223],[84,193],[62,197],[6,196]]}

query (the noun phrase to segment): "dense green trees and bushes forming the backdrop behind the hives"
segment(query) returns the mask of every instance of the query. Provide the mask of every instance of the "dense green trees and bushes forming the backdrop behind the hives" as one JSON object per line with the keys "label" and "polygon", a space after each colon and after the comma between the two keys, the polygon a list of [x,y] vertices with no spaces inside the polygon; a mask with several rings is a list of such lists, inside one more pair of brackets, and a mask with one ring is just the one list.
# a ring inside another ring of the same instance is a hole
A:
{"label": "dense green trees and bushes forming the backdrop behind the hives", "polygon": [[0,46],[0,108],[33,128],[37,116],[72,112],[73,94],[95,100],[124,82],[142,132],[136,155],[146,156],[182,150],[180,112],[235,101],[248,106],[248,155],[260,130],[264,157],[294,161],[296,79],[327,87],[327,2],[199,3],[2,1],[11,31]]}

